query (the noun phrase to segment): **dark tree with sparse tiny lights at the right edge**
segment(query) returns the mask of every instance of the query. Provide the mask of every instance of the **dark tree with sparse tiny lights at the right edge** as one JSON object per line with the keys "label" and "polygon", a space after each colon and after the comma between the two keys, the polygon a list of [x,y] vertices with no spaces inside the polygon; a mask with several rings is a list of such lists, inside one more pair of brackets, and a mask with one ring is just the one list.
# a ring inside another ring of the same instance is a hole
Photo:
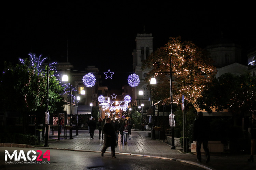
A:
{"label": "dark tree with sparse tiny lights at the right edge", "polygon": [[226,73],[208,83],[196,104],[208,113],[228,109],[233,113],[256,111],[256,78],[246,73]]}

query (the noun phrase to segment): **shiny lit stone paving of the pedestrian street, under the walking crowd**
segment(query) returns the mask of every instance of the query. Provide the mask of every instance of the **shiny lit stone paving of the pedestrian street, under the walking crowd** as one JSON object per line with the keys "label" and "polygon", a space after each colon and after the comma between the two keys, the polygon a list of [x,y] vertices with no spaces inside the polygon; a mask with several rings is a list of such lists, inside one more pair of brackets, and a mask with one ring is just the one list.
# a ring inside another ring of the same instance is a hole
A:
{"label": "shiny lit stone paving of the pedestrian street, under the walking crowd", "polygon": [[[55,135],[49,135],[49,139],[54,137],[57,139],[57,131]],[[159,140],[152,140],[148,137],[148,132],[150,131],[132,131],[131,140],[127,140],[127,145],[121,144],[121,135],[119,134],[118,146],[115,151],[123,153],[135,153],[135,154],[181,154],[178,150],[171,150],[170,146]],[[67,132],[69,135],[69,133]],[[73,131],[76,134],[76,131]],[[101,151],[103,147],[103,139],[99,139],[99,131],[95,130],[94,139],[90,139],[90,134],[88,130],[81,130],[78,132],[79,135],[73,136],[73,139],[64,140],[65,137],[62,133],[61,140],[58,142],[48,141],[48,145],[51,148],[65,148],[65,149],[82,149],[82,150],[92,150]],[[63,138],[63,140],[62,140]],[[108,148],[108,150],[111,150]]]}

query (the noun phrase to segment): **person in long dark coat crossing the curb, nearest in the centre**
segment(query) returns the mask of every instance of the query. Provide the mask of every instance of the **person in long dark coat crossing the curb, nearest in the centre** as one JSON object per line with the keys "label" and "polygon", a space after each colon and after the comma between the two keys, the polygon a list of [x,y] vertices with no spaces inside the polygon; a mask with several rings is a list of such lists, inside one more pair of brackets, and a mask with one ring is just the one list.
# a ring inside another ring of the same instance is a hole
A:
{"label": "person in long dark coat crossing the curb, nearest in the centre", "polygon": [[111,124],[110,118],[106,118],[106,124],[103,126],[103,132],[104,132],[104,144],[101,150],[101,156],[104,155],[108,147],[111,147],[112,158],[116,158],[115,156],[116,134],[115,134],[115,129]]}

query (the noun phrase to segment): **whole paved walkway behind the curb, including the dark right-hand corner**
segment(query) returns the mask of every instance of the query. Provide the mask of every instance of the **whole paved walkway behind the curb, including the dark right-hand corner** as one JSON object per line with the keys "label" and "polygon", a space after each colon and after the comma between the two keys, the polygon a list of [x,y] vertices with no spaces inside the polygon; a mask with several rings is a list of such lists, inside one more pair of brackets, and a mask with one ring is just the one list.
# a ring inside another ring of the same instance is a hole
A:
{"label": "whole paved walkway behind the curb, including the dark right-hand corner", "polygon": [[[63,132],[63,131],[62,131]],[[221,154],[221,155],[211,155],[211,160],[209,163],[205,163],[205,158],[202,155],[202,162],[198,163],[197,156],[191,153],[182,153],[181,148],[176,147],[172,150],[171,146],[163,140],[153,140],[148,137],[150,131],[132,131],[131,140],[127,141],[127,145],[121,144],[121,137],[119,135],[118,146],[115,148],[116,156],[118,154],[125,155],[135,155],[135,156],[146,156],[155,157],[160,159],[169,159],[180,162],[185,162],[195,166],[199,166],[208,170],[255,170],[256,164],[247,162],[250,154]],[[69,132],[67,133],[69,135]],[[79,130],[78,134],[75,135],[76,131],[73,130],[73,139],[65,139],[63,133],[60,140],[53,141],[51,139],[57,139],[57,131],[50,132],[48,145],[49,149],[63,149],[63,150],[74,150],[74,151],[84,151],[84,152],[101,152],[103,147],[103,140],[99,139],[99,131],[95,130],[94,139],[90,139],[90,134],[88,130]],[[44,146],[44,145],[43,145]],[[41,148],[41,147],[37,147]],[[45,147],[44,147],[45,148]],[[180,150],[179,150],[180,149]],[[111,153],[111,148],[109,147],[106,153]],[[255,158],[254,158],[255,159]],[[171,164],[170,164],[171,165]]]}

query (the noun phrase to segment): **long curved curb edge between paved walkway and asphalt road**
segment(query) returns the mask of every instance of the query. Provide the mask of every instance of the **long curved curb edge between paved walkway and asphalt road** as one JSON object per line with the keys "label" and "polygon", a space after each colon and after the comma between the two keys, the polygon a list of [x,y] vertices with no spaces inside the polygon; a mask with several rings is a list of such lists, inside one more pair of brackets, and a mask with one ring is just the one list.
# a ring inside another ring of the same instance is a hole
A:
{"label": "long curved curb edge between paved walkway and asphalt road", "polygon": [[[0,147],[17,147],[17,148],[45,148],[45,147],[33,147],[30,145],[24,145],[24,144],[16,144],[16,143],[0,143]],[[56,149],[56,150],[66,150],[66,151],[78,151],[78,152],[97,152],[100,153],[101,151],[97,150],[85,150],[85,149],[68,149],[68,148],[49,148],[47,149]],[[106,151],[105,153],[111,153],[110,151]],[[158,159],[166,159],[166,160],[174,160],[182,163],[187,163],[190,165],[194,165],[206,170],[215,170],[210,167],[206,167],[204,165],[187,161],[187,160],[182,160],[182,159],[176,159],[176,158],[167,158],[167,157],[161,157],[161,156],[152,156],[152,155],[142,155],[142,154],[133,154],[133,153],[124,153],[124,152],[116,152],[116,154],[121,154],[121,155],[131,155],[131,156],[142,156],[142,157],[151,157],[151,158],[158,158]]]}

